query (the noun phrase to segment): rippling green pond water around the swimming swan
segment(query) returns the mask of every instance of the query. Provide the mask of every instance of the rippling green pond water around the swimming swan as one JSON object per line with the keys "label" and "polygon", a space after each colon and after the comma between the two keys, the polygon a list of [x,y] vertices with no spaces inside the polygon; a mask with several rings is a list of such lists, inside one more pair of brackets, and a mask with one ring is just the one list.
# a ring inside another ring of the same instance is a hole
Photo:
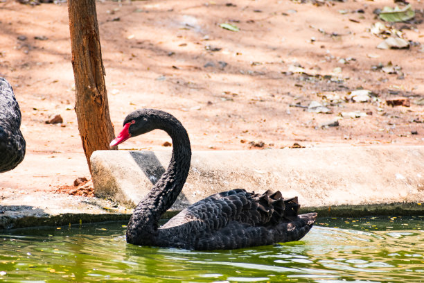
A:
{"label": "rippling green pond water around the swimming swan", "polygon": [[424,282],[424,218],[319,218],[301,241],[132,246],[125,223],[0,231],[0,282]]}

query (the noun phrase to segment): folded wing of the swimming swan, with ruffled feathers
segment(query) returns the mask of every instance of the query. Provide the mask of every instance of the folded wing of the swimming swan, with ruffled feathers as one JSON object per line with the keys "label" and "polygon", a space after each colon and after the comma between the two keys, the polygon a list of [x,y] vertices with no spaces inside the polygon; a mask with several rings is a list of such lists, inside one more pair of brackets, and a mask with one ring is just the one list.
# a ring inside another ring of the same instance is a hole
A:
{"label": "folded wing of the swimming swan, with ruffled feathers", "polygon": [[280,223],[281,219],[297,218],[298,209],[297,198],[284,200],[279,191],[274,194],[270,191],[254,194],[245,189],[233,189],[209,196],[187,207],[161,229],[184,225],[191,230],[187,231],[189,233],[211,234],[227,227],[232,221],[269,227]]}

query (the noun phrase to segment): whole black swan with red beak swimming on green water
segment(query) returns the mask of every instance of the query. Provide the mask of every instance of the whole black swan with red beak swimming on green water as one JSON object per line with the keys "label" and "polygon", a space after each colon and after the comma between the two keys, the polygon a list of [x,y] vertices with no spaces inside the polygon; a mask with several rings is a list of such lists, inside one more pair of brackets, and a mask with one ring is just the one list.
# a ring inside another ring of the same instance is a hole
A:
{"label": "whole black swan with red beak swimming on green water", "polygon": [[154,129],[173,141],[166,172],[140,201],[127,225],[127,242],[142,246],[220,250],[297,241],[310,230],[317,214],[298,215],[297,198],[281,193],[254,194],[233,189],[190,205],[159,228],[159,219],[173,205],[190,169],[191,146],[186,129],[167,112],[141,109],[130,113],[110,146]]}

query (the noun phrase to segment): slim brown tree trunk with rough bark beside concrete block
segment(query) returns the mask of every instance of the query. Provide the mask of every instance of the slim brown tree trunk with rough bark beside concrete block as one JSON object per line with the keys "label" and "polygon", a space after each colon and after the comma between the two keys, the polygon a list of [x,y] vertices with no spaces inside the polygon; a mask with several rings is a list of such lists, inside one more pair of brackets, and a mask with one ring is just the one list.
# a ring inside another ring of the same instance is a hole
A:
{"label": "slim brown tree trunk with rough bark beside concrete block", "polygon": [[109,117],[95,0],[68,0],[78,129],[91,172],[91,153],[110,149],[115,138]]}

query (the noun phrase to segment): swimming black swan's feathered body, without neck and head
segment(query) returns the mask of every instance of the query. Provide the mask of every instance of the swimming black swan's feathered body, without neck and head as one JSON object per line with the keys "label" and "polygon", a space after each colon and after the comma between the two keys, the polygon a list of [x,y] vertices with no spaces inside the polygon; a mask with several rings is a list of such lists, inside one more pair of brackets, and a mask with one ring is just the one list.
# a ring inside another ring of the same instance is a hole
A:
{"label": "swimming black swan's feathered body, without neck and head", "polygon": [[270,245],[301,239],[317,214],[297,215],[297,198],[277,191],[224,191],[187,207],[159,230],[158,246],[217,250]]}

